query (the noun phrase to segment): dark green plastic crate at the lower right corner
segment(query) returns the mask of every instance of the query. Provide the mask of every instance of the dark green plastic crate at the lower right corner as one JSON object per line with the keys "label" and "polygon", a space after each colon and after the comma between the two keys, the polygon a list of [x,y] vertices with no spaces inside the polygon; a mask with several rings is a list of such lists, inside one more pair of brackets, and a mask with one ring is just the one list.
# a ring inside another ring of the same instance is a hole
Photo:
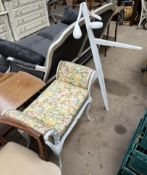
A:
{"label": "dark green plastic crate at the lower right corner", "polygon": [[145,148],[147,148],[147,111],[133,134],[118,175],[147,175],[147,168],[141,166],[144,164],[147,167]]}

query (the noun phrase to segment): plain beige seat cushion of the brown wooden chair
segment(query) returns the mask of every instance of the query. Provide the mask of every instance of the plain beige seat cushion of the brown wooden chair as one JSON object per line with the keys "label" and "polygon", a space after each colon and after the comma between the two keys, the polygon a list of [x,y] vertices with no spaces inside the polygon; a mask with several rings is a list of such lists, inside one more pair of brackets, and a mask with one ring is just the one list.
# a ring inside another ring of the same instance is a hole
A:
{"label": "plain beige seat cushion of the brown wooden chair", "polygon": [[13,142],[0,150],[0,175],[61,175],[60,169],[51,162]]}

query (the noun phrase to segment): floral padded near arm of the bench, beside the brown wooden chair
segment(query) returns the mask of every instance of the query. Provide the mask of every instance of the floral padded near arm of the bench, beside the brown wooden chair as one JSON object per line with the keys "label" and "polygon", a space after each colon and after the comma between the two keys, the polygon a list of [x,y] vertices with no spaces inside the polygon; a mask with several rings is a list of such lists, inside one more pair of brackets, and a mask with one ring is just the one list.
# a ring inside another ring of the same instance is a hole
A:
{"label": "floral padded near arm of the bench, beside the brown wooden chair", "polygon": [[45,134],[48,131],[48,128],[41,121],[39,121],[37,118],[27,116],[26,114],[24,114],[21,111],[8,110],[5,112],[4,115],[11,117],[11,118],[14,118],[14,119],[17,119],[17,120],[23,122],[24,124],[30,126],[34,130],[42,133],[42,134]]}

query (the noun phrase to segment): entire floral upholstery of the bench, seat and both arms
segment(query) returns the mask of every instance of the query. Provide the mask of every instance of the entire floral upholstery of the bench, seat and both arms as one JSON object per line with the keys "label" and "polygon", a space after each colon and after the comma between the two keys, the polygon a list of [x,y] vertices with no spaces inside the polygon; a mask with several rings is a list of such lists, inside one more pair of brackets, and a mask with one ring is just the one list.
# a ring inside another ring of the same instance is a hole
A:
{"label": "entire floral upholstery of the bench, seat and both arms", "polygon": [[93,70],[85,66],[60,62],[57,79],[23,112],[9,110],[15,118],[45,134],[54,129],[62,136],[89,97],[88,83]]}

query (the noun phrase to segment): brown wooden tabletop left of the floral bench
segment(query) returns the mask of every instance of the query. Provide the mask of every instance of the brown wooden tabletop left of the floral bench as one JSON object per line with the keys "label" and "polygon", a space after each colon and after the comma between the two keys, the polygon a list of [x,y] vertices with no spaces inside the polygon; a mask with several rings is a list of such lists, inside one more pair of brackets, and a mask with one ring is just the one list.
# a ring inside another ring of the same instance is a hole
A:
{"label": "brown wooden tabletop left of the floral bench", "polygon": [[[0,113],[7,109],[16,109],[35,95],[45,83],[25,72],[6,74],[0,82]],[[0,79],[0,80],[1,80]]]}

